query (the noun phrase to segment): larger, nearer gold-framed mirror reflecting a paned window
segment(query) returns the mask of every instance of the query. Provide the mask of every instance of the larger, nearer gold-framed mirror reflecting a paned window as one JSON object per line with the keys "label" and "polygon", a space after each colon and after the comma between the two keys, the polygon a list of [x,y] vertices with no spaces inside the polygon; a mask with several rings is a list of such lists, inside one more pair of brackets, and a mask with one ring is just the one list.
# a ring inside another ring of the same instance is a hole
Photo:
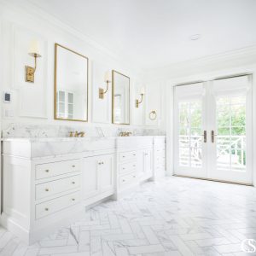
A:
{"label": "larger, nearer gold-framed mirror reflecting a paned window", "polygon": [[87,121],[88,58],[55,44],[55,119]]}

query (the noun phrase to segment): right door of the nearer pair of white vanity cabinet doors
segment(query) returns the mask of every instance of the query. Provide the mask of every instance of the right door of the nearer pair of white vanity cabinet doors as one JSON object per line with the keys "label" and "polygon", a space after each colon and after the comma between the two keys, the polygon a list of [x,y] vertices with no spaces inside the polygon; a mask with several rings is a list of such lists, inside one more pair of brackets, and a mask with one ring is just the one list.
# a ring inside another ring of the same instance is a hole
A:
{"label": "right door of the nearer pair of white vanity cabinet doors", "polygon": [[113,189],[113,154],[100,156],[98,162],[101,192]]}

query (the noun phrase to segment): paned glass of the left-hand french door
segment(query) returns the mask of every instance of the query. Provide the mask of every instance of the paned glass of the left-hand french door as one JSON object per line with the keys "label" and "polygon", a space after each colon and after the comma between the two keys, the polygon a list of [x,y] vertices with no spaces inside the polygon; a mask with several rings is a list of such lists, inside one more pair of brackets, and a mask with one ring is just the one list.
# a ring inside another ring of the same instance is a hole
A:
{"label": "paned glass of the left-hand french door", "polygon": [[179,102],[179,165],[201,168],[201,100]]}

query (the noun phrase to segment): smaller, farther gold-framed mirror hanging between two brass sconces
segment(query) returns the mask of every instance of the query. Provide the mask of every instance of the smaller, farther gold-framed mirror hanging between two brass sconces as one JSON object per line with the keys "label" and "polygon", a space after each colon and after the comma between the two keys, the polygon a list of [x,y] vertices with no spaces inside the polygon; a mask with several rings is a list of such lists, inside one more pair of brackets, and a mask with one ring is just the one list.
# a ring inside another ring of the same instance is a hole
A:
{"label": "smaller, farther gold-framed mirror hanging between two brass sconces", "polygon": [[112,123],[130,124],[130,78],[112,71]]}

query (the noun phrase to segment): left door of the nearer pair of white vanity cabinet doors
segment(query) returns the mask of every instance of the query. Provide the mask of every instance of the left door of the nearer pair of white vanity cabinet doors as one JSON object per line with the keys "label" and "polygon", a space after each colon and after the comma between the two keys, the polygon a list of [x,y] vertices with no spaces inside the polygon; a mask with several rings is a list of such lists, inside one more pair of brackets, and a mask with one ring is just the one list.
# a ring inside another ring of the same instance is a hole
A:
{"label": "left door of the nearer pair of white vanity cabinet doors", "polygon": [[99,162],[96,157],[84,158],[82,169],[83,199],[97,195],[99,189]]}

